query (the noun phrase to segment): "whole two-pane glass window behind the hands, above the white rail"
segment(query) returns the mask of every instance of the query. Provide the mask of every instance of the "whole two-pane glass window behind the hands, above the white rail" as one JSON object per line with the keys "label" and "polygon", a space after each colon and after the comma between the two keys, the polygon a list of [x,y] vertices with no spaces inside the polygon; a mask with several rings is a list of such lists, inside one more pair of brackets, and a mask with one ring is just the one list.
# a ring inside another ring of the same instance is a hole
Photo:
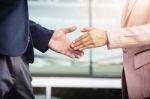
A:
{"label": "whole two-pane glass window behind the hands, above the white rail", "polygon": [[[96,28],[120,27],[122,0],[91,1],[90,14],[89,0],[30,0],[30,19],[54,30],[78,26],[76,32],[67,35],[71,41],[82,35],[80,29],[89,26],[90,23]],[[104,46],[86,50],[83,58],[75,60],[51,50],[45,54],[35,50],[35,62],[30,67],[32,74],[36,76],[120,77],[122,51],[108,50]]]}

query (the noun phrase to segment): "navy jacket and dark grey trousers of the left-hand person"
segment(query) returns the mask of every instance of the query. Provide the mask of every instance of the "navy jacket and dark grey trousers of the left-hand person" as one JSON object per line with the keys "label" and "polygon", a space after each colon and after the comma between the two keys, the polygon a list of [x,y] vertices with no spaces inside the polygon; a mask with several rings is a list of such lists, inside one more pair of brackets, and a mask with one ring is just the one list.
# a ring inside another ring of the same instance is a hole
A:
{"label": "navy jacket and dark grey trousers of the left-hand person", "polygon": [[0,99],[34,99],[28,63],[53,32],[29,21],[27,0],[0,0]]}

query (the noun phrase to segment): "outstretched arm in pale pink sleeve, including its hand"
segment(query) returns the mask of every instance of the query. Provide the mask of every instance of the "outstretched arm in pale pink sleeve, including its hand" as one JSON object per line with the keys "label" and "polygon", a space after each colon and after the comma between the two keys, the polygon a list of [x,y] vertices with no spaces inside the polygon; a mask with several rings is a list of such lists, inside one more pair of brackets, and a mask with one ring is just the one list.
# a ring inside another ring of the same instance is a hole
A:
{"label": "outstretched arm in pale pink sleeve, including its hand", "polygon": [[75,50],[101,47],[107,45],[112,48],[130,48],[150,44],[150,23],[131,28],[122,28],[117,31],[84,28],[85,35],[80,36],[72,44]]}

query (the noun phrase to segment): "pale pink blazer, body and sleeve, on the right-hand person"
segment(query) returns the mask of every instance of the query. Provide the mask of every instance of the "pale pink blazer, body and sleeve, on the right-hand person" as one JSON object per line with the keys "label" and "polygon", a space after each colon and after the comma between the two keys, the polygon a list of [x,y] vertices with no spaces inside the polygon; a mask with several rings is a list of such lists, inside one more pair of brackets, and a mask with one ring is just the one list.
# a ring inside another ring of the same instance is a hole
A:
{"label": "pale pink blazer, body and sleeve, on the right-hand person", "polygon": [[122,28],[108,31],[108,47],[123,48],[130,99],[150,97],[150,0],[126,0]]}

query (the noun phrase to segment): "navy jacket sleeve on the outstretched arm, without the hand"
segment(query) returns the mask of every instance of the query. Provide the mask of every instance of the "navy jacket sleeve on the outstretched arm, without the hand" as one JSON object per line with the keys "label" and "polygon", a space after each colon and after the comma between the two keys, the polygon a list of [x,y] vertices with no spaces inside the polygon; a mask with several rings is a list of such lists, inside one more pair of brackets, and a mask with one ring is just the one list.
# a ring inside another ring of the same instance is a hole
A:
{"label": "navy jacket sleeve on the outstretched arm, without the hand", "polygon": [[29,21],[29,26],[34,48],[41,52],[47,51],[48,42],[51,39],[54,30],[46,29],[33,21]]}

